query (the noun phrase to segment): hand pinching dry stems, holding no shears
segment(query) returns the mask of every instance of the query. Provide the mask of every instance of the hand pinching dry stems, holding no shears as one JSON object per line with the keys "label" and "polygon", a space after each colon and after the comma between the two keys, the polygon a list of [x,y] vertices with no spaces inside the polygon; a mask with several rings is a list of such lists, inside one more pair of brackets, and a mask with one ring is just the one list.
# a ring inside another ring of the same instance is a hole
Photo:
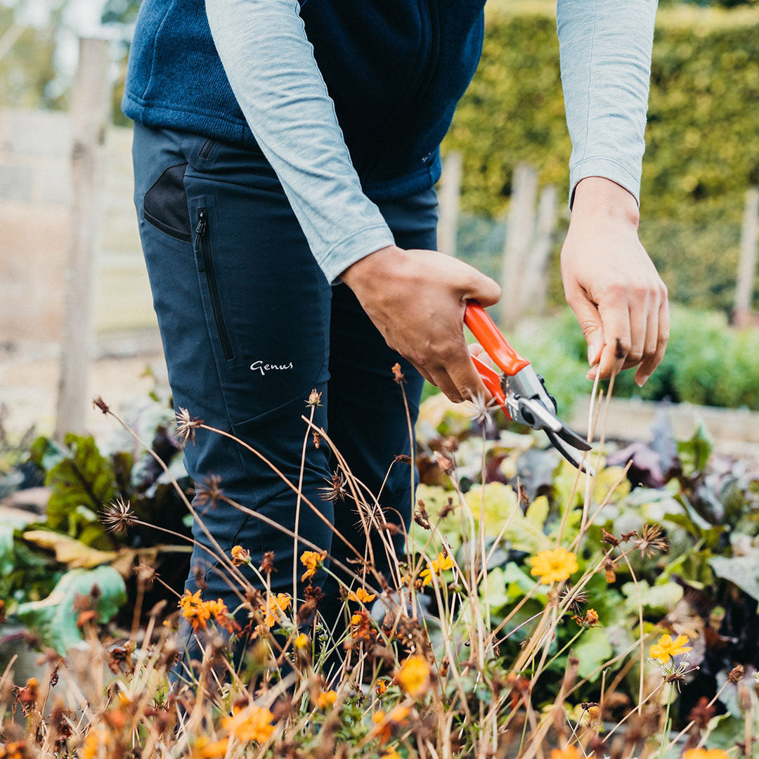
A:
{"label": "hand pinching dry stems, holding no shears", "polygon": [[638,204],[609,179],[575,188],[561,254],[567,303],[587,342],[589,379],[638,366],[643,386],[669,340],[666,285],[638,240]]}

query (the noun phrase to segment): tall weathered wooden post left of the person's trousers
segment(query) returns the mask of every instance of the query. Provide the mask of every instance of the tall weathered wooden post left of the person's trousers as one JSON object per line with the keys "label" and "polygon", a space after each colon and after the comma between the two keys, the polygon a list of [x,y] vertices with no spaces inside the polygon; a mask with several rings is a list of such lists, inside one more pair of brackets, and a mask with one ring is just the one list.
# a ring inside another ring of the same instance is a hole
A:
{"label": "tall weathered wooden post left of the person's trousers", "polygon": [[55,439],[80,432],[87,412],[93,345],[93,266],[101,196],[101,154],[109,98],[109,49],[104,39],[79,40],[71,90],[71,228],[64,291],[63,335]]}

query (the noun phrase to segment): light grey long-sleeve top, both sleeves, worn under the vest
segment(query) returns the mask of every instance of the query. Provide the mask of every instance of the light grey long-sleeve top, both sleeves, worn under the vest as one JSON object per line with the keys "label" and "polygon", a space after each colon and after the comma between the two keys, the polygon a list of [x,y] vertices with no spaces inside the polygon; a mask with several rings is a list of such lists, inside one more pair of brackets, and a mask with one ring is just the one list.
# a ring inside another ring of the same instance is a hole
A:
{"label": "light grey long-sleeve top, both sleeves, worn under the vest", "polygon": [[[570,198],[601,176],[638,199],[656,0],[558,0],[572,137]],[[211,33],[250,130],[329,282],[393,244],[361,191],[297,0],[206,0]]]}

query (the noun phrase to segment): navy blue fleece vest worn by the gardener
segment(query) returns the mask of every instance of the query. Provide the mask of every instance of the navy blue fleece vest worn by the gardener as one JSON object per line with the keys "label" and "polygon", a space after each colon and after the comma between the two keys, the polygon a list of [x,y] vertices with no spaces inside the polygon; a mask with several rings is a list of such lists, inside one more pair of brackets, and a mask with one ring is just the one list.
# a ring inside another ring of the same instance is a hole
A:
{"label": "navy blue fleece vest worn by the gardener", "polygon": [[[308,39],[370,197],[431,187],[439,143],[483,38],[484,0],[309,0]],[[204,0],[144,0],[124,113],[255,149],[213,45]]]}

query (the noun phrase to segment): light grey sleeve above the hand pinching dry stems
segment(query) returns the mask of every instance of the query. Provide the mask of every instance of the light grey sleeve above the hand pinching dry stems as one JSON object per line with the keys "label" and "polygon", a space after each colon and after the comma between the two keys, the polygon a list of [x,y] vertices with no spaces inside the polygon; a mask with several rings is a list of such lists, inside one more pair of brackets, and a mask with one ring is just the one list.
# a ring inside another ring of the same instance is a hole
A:
{"label": "light grey sleeve above the hand pinching dry stems", "polygon": [[598,176],[640,197],[656,0],[558,0],[570,201]]}

